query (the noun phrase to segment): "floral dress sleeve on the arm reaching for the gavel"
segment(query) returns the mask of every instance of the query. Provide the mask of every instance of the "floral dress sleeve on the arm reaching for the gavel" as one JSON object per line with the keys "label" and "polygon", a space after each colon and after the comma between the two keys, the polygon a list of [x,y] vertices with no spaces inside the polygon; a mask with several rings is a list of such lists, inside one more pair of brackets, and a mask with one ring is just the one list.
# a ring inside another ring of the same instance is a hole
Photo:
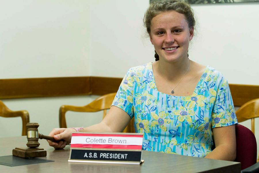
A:
{"label": "floral dress sleeve on the arm reaching for the gavel", "polygon": [[132,77],[130,76],[130,71],[124,76],[117,94],[113,100],[111,106],[117,106],[124,110],[130,118],[134,117],[134,109],[133,109],[133,90],[134,90],[134,82],[132,81]]}

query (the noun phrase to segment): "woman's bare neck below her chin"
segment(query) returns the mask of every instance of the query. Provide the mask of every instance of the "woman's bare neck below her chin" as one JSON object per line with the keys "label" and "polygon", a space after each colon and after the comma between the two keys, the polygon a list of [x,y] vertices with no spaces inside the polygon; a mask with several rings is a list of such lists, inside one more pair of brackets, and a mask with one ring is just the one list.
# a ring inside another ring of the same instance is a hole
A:
{"label": "woman's bare neck below her chin", "polygon": [[166,80],[178,80],[179,78],[182,78],[191,65],[191,61],[188,58],[184,58],[181,61],[174,63],[163,60],[159,60],[157,62],[157,68]]}

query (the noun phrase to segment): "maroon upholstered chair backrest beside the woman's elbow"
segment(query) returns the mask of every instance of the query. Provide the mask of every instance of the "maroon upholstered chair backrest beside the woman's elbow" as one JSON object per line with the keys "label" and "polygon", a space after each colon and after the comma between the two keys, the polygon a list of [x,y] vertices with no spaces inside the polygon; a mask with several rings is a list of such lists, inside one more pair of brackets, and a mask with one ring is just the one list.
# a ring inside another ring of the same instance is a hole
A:
{"label": "maroon upholstered chair backrest beside the woman's elbow", "polygon": [[241,170],[256,163],[256,138],[254,133],[243,125],[236,125],[237,157]]}

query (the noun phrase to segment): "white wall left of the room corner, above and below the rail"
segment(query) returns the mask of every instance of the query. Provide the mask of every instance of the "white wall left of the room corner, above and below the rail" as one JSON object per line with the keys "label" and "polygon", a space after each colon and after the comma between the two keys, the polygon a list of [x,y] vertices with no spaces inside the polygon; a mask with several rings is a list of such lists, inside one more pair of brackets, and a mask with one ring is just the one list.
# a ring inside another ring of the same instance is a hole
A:
{"label": "white wall left of the room corner, above and below the rail", "polygon": [[[90,1],[0,0],[0,79],[89,76],[89,6]],[[96,97],[2,101],[11,110],[27,110],[39,132],[48,134],[59,127],[61,105],[83,106]],[[68,112],[68,127],[97,123],[99,114],[91,114],[89,121],[82,113]],[[21,128],[20,118],[0,117],[0,137],[20,136]]]}

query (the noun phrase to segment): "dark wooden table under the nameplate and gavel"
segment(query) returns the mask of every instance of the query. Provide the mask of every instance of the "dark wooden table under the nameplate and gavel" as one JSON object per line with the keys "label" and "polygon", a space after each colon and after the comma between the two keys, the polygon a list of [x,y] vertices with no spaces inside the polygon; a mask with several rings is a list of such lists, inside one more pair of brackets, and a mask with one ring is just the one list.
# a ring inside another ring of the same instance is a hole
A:
{"label": "dark wooden table under the nameplate and gavel", "polygon": [[[54,150],[46,140],[39,140],[40,148],[47,151],[47,157],[42,159],[54,160],[54,162],[39,163],[24,166],[4,166],[0,165],[1,172],[239,172],[241,164],[233,161],[222,161],[205,159],[198,157],[157,153],[143,151],[141,165],[123,164],[98,164],[98,163],[69,163],[70,147],[66,146],[62,150]],[[15,147],[26,146],[26,136],[0,138],[0,156],[12,155]]]}

